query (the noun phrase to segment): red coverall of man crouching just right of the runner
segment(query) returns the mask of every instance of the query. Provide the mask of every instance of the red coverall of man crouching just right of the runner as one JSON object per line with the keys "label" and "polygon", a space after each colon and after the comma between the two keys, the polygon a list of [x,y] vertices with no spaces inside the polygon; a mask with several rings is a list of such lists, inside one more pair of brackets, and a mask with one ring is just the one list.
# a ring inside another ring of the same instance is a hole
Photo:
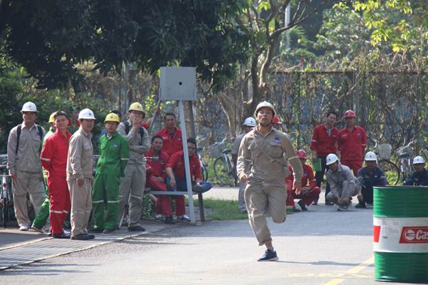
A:
{"label": "red coverall of man crouching just right of the runner", "polygon": [[[303,175],[302,175],[302,187],[307,186],[309,187],[310,191],[305,194],[296,195],[294,192],[296,189],[293,189],[293,181],[294,181],[294,175],[293,175],[293,168],[291,165],[288,166],[288,170],[290,171],[290,174],[287,178],[285,178],[285,183],[287,184],[287,206],[293,206],[294,208],[294,199],[302,199],[303,202],[309,206],[311,205],[312,201],[321,193],[320,187],[316,186],[316,179],[313,175],[312,167],[308,164],[303,164]],[[309,185],[308,185],[309,184]]]}

